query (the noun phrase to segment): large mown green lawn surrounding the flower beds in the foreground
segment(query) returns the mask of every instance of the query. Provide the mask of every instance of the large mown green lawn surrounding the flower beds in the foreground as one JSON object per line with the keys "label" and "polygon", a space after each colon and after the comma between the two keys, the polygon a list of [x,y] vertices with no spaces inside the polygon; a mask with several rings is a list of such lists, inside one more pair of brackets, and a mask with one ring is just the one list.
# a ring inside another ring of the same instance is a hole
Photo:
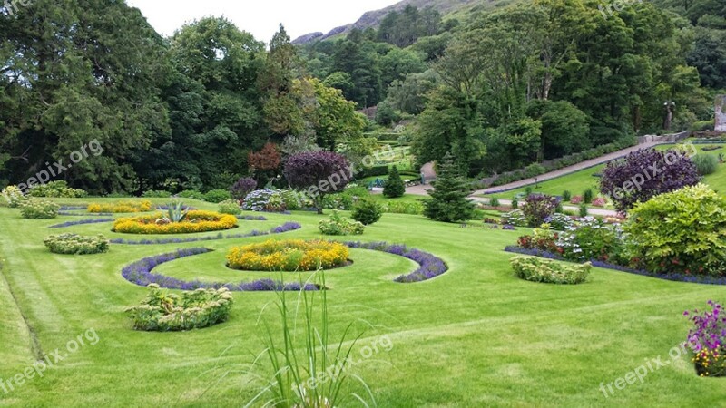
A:
{"label": "large mown green lawn surrounding the flower beds in the foreground", "polygon": [[[64,202],[88,202],[67,200]],[[187,200],[201,209],[216,206]],[[309,212],[267,215],[242,221],[271,228],[298,221],[303,228],[273,238],[320,238],[320,216]],[[142,333],[123,313],[146,289],[121,276],[124,265],[175,248],[215,249],[160,267],[177,277],[234,279],[266,274],[224,267],[235,245],[270,237],[190,244],[113,245],[107,254],[73,257],[49,253],[43,238],[60,232],[112,233],[110,224],[48,229],[69,219],[24,220],[16,209],[0,209],[0,259],[9,288],[0,279],[0,378],[32,364],[25,316],[48,353],[93,328],[100,341],[16,387],[0,389],[0,404],[12,406],[243,406],[263,382],[246,374],[264,344],[261,318],[280,327],[271,310],[272,293],[236,293],[230,320],[188,333]],[[726,398],[723,380],[700,379],[690,363],[669,364],[610,398],[601,383],[632,372],[645,359],[662,356],[688,331],[682,311],[723,300],[723,288],[669,282],[594,269],[580,286],[525,282],[513,276],[505,245],[525,231],[459,228],[417,216],[385,214],[356,237],[406,243],[446,260],[443,276],[397,284],[397,275],[416,266],[400,257],[354,250],[350,267],[326,273],[329,330],[333,338],[356,322],[369,322],[352,367],[381,407],[440,406],[718,406]],[[124,236],[129,238],[128,236]],[[278,274],[273,274],[277,277]],[[292,279],[294,276],[286,276]],[[15,306],[10,290],[15,294]],[[366,345],[388,335],[392,348],[360,357]],[[300,347],[301,338],[296,340]],[[265,372],[260,372],[260,374]],[[346,393],[364,391],[354,382]],[[344,406],[358,406],[352,400]]]}

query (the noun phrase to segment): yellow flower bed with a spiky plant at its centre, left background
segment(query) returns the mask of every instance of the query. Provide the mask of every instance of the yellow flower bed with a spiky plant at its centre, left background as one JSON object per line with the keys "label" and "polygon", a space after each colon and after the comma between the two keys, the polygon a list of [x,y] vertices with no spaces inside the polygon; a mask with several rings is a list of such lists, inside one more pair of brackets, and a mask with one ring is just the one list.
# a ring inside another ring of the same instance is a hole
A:
{"label": "yellow flower bed with a spiky plant at its centre, left background", "polygon": [[182,222],[165,222],[163,215],[116,219],[114,232],[129,234],[188,234],[193,232],[221,231],[237,227],[237,217],[212,211],[189,211]]}

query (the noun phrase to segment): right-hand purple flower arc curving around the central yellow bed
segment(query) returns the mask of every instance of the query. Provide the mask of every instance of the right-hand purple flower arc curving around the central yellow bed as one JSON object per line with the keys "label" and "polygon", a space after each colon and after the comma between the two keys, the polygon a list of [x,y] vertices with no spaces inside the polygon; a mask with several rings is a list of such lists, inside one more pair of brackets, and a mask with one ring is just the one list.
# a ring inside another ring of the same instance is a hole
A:
{"label": "right-hand purple flower arc curving around the central yellow bed", "polygon": [[416,262],[419,267],[408,275],[401,275],[394,279],[396,282],[409,283],[421,282],[437,277],[448,270],[446,262],[428,252],[415,248],[407,248],[405,245],[388,244],[387,242],[345,242],[349,248],[362,248],[374,251],[388,252],[388,254],[407,257]]}

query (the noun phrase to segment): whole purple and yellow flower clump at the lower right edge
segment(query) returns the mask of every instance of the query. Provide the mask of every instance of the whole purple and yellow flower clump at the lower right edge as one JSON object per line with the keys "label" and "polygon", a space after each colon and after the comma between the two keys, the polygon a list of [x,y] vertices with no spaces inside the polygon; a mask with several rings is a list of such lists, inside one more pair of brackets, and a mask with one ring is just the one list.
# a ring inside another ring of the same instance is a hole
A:
{"label": "whole purple and yellow flower clump at the lower right edge", "polygon": [[684,312],[690,316],[693,328],[687,344],[693,352],[692,362],[701,377],[726,376],[726,314],[721,304],[708,301],[709,307],[699,312]]}

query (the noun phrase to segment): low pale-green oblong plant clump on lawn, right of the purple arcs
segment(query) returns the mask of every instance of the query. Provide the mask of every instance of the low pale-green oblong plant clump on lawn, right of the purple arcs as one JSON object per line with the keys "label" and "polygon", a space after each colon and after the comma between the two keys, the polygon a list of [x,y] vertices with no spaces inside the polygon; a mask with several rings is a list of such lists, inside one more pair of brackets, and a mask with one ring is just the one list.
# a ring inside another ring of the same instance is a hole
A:
{"label": "low pale-green oblong plant clump on lawn, right of the purple arcs", "polygon": [[563,285],[583,283],[592,268],[590,262],[569,264],[539,257],[513,257],[510,262],[521,279]]}

